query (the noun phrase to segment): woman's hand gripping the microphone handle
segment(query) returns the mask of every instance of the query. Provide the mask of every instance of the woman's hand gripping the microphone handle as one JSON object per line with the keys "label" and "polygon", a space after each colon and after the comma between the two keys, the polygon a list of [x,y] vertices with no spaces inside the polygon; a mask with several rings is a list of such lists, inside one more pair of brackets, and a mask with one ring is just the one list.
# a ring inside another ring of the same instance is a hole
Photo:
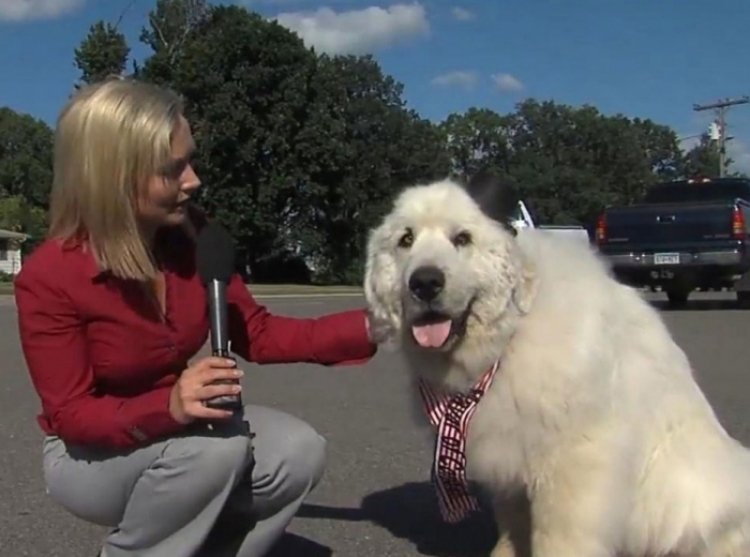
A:
{"label": "woman's hand gripping the microphone handle", "polygon": [[199,360],[182,372],[172,388],[169,398],[169,412],[182,424],[198,419],[221,420],[232,416],[230,410],[207,408],[204,400],[217,396],[236,395],[241,387],[237,384],[217,384],[221,379],[239,379],[242,371],[237,369],[234,360],[209,357]]}

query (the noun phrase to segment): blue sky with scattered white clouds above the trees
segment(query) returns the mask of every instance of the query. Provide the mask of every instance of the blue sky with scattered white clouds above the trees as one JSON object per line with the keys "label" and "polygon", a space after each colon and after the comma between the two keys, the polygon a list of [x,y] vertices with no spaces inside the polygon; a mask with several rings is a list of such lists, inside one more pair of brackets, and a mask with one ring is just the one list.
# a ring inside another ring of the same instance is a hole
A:
{"label": "blue sky with scattered white clouds above the trees", "polygon": [[[333,53],[373,53],[412,107],[442,119],[526,98],[652,118],[681,137],[712,118],[694,103],[750,94],[748,0],[248,0]],[[153,1],[0,0],[0,106],[50,123],[77,78],[73,49],[115,21],[136,57]],[[729,112],[731,154],[750,169],[750,105]],[[689,140],[688,140],[689,142]]]}

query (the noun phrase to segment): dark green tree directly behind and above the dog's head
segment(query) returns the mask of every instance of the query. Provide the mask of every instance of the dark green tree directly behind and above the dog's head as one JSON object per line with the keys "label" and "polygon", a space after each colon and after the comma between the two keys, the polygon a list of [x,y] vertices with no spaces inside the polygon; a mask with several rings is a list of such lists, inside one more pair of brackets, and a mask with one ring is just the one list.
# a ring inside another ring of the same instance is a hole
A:
{"label": "dark green tree directly behind and above the dog's head", "polygon": [[394,194],[448,175],[445,139],[371,56],[321,56],[311,95],[299,243],[324,280],[359,282],[368,230]]}

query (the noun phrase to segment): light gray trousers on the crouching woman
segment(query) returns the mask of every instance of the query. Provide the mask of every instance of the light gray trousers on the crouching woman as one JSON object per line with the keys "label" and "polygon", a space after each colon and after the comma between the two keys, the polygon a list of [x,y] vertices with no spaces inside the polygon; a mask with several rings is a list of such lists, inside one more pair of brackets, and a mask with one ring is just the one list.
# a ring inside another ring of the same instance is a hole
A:
{"label": "light gray trousers on the crouching woman", "polygon": [[252,440],[239,420],[128,451],[47,437],[47,490],[113,528],[103,557],[261,557],[320,481],[325,441],[278,410],[246,406],[245,416]]}

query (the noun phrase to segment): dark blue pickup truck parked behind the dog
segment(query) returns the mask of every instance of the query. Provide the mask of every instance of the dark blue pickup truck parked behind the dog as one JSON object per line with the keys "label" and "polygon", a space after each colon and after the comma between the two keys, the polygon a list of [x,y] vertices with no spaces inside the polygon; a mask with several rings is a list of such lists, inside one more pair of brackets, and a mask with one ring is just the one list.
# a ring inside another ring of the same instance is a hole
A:
{"label": "dark blue pickup truck parked behind the dog", "polygon": [[750,180],[714,178],[652,186],[643,201],[607,209],[601,254],[621,282],[661,287],[673,305],[696,288],[734,288],[750,305]]}

